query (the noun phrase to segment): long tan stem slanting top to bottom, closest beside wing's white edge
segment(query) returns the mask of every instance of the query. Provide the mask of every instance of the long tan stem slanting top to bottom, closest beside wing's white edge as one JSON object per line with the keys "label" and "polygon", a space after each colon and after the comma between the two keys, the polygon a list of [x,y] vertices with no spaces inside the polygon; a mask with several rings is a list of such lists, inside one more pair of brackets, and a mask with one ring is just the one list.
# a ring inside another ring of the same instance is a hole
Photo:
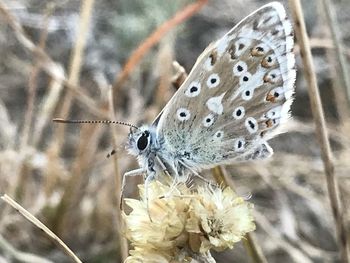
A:
{"label": "long tan stem slanting top to bottom, closest beside wing's white edge", "polygon": [[326,174],[328,195],[336,225],[336,234],[340,246],[342,262],[349,262],[347,231],[344,224],[343,209],[339,196],[339,187],[334,174],[332,152],[328,140],[326,122],[323,114],[322,103],[318,91],[317,80],[312,62],[309,39],[307,36],[303,11],[300,0],[290,0],[293,17],[295,20],[296,36],[300,45],[300,55],[304,63],[305,77],[308,82],[308,91],[311,102],[311,110],[316,124],[316,136],[321,147],[321,157]]}

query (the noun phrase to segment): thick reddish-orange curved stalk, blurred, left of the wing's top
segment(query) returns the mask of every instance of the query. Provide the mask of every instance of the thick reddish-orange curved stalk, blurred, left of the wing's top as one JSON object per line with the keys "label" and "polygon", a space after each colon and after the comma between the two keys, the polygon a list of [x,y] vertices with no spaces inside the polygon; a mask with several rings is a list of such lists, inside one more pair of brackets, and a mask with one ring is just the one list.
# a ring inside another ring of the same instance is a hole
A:
{"label": "thick reddish-orange curved stalk, blurred, left of the wing's top", "polygon": [[148,50],[157,44],[166,33],[197,13],[204,5],[207,4],[207,2],[208,0],[197,0],[193,4],[187,5],[184,9],[177,12],[171,19],[165,21],[149,37],[147,37],[131,54],[122,71],[116,76],[113,89],[116,91],[120,89],[120,87],[128,79],[130,73],[146,55]]}

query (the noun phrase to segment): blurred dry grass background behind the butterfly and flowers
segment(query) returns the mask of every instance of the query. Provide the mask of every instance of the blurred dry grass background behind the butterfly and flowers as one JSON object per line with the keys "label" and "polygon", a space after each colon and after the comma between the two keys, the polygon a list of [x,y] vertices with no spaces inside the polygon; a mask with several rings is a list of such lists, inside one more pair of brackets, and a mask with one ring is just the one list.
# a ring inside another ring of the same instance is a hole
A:
{"label": "blurred dry grass background behind the butterfly and flowers", "polygon": [[[129,77],[121,80],[133,51],[165,21],[199,2],[0,1],[0,194],[38,217],[84,262],[125,257],[119,179],[138,165],[124,149],[127,127],[51,120],[152,122],[175,92],[173,60],[189,72],[210,42],[268,1],[202,4],[151,49],[142,50],[143,58],[131,63]],[[288,9],[287,1],[280,2]],[[302,2],[349,228],[350,98],[335,47],[342,45],[346,62],[350,4],[332,1],[336,23],[331,24],[323,1]],[[330,26],[340,36],[336,43]],[[275,154],[269,160],[233,164],[227,172],[240,195],[251,195],[256,240],[269,262],[340,262],[298,45],[295,52],[298,76],[289,132],[271,140]],[[117,153],[106,158],[112,149]],[[128,178],[126,196],[137,197],[141,182]],[[0,262],[38,262],[19,257],[23,253],[70,262],[45,234],[0,202]],[[250,262],[241,243],[214,256],[217,262]]]}

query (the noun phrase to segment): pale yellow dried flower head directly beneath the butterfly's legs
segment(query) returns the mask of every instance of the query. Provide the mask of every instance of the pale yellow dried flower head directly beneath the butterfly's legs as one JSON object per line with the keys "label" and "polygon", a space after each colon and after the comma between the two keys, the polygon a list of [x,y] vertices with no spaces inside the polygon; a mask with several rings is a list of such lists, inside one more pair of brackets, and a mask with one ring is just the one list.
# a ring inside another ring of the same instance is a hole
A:
{"label": "pale yellow dried flower head directly beneath the butterfly's legs", "polygon": [[[189,198],[172,195],[171,188],[154,181],[149,185],[148,207],[144,198],[143,185],[140,187],[141,200],[126,199],[126,204],[133,210],[123,215],[126,222],[126,236],[135,247],[149,249],[172,249],[182,246],[187,240],[183,237],[189,209]],[[188,189],[180,187],[182,193]]]}

